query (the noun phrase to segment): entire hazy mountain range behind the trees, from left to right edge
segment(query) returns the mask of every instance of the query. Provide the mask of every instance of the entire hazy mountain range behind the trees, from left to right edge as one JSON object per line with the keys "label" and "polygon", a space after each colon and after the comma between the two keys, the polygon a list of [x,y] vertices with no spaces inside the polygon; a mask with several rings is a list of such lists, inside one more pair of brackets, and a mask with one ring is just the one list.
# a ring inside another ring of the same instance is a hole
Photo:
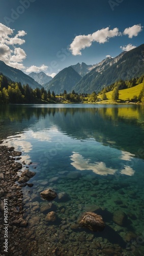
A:
{"label": "entire hazy mountain range behind the trees, from left to right edge", "polygon": [[[12,81],[28,83],[30,87],[44,87],[60,95],[64,90],[67,93],[74,90],[77,93],[100,92],[106,86],[123,80],[130,80],[144,74],[144,44],[128,52],[122,52],[117,57],[107,57],[96,65],[77,63],[61,70],[54,78],[44,72],[32,72],[28,75],[12,68],[0,60],[0,73]],[[34,80],[35,79],[35,80]]]}

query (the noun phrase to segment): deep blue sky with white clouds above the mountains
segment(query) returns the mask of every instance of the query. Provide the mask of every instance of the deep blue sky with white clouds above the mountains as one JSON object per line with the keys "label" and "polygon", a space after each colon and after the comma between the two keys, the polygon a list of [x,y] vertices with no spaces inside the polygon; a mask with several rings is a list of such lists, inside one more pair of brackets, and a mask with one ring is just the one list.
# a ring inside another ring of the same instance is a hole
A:
{"label": "deep blue sky with white clouds above the mountains", "polygon": [[0,0],[0,59],[54,76],[144,43],[143,0]]}

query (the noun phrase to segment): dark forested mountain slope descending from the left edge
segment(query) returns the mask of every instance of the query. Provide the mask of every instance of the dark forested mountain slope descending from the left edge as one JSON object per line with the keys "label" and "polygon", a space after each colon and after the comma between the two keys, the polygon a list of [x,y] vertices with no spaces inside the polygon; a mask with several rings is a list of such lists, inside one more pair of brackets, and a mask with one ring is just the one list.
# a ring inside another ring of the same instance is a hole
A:
{"label": "dark forested mountain slope descending from the left edge", "polygon": [[19,69],[12,68],[2,60],[0,60],[0,73],[3,73],[3,75],[7,76],[14,82],[21,82],[22,86],[23,84],[26,85],[26,83],[32,87],[32,89],[36,89],[37,87],[42,88],[41,84],[36,82],[32,77],[26,75]]}

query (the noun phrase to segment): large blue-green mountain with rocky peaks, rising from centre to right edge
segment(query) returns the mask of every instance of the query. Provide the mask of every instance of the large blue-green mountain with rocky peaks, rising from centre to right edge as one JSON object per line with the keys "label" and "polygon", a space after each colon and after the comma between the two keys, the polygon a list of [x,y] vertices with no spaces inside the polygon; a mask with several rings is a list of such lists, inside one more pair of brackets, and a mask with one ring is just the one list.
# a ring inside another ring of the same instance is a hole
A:
{"label": "large blue-green mountain with rocky peaks, rising from centre to right edge", "polygon": [[[46,90],[56,94],[74,90],[77,93],[100,92],[104,87],[144,74],[144,44],[117,57],[107,57],[96,65],[77,63],[60,71],[50,82],[44,84]],[[72,71],[72,69],[75,71]],[[78,76],[79,75],[79,76]]]}

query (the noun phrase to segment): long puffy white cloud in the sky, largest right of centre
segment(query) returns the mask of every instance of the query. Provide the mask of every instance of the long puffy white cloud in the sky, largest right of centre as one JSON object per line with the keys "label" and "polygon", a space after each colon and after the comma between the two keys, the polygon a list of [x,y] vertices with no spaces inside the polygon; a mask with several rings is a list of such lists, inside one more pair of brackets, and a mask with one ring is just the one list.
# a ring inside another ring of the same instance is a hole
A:
{"label": "long puffy white cloud in the sky, largest right of centre", "polygon": [[114,36],[119,36],[121,33],[118,28],[114,28],[113,30],[109,30],[109,28],[101,29],[93,34],[89,35],[78,35],[74,38],[72,44],[70,45],[70,51],[73,55],[81,55],[81,50],[86,47],[90,47],[92,42],[96,41],[99,44],[104,44],[107,42],[109,38]]}

